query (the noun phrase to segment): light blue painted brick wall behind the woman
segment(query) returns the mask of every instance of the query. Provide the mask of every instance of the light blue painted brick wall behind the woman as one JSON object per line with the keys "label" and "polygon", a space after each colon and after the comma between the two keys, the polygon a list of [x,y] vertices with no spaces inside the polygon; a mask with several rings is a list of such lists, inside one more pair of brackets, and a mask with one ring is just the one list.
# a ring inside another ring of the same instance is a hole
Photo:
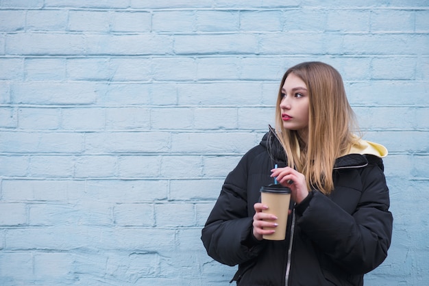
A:
{"label": "light blue painted brick wall behind the woman", "polygon": [[228,285],[201,227],[306,60],[390,151],[365,285],[429,285],[428,33],[426,0],[1,0],[0,285]]}

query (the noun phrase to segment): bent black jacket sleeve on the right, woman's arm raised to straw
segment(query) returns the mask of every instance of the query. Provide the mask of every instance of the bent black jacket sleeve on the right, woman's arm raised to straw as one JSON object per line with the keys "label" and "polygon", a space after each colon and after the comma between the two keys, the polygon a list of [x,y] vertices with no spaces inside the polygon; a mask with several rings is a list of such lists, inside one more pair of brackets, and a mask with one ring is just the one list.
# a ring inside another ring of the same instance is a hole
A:
{"label": "bent black jacket sleeve on the right, woman's arm raised to straw", "polygon": [[297,220],[319,249],[350,274],[365,274],[380,265],[392,235],[389,189],[382,168],[369,165],[360,177],[362,193],[352,214],[316,191]]}

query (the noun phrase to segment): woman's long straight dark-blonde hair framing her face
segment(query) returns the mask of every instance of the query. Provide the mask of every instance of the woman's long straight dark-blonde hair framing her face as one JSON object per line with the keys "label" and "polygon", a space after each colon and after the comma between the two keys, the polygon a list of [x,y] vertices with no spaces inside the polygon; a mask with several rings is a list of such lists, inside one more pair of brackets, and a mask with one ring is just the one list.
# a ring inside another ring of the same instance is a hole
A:
{"label": "woman's long straight dark-blonde hair framing her face", "polygon": [[[293,73],[308,90],[308,140],[299,142],[295,130],[284,129],[280,102],[286,77]],[[302,172],[308,189],[323,194],[334,189],[332,170],[335,159],[345,155],[356,141],[355,114],[347,101],[339,72],[322,62],[304,62],[289,68],[282,78],[275,109],[275,131],[286,152],[288,166]]]}

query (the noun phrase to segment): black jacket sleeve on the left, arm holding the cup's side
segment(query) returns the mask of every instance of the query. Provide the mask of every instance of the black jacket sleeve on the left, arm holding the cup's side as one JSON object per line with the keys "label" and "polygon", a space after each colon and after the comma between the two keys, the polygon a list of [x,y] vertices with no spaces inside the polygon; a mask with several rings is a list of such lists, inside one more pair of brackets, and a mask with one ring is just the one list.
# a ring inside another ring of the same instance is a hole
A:
{"label": "black jacket sleeve on the left, arm holding the cup's side", "polygon": [[[225,179],[221,194],[201,231],[208,255],[220,263],[236,265],[258,255],[262,243],[249,246],[253,218],[247,211],[247,153]],[[253,236],[253,235],[252,235]]]}

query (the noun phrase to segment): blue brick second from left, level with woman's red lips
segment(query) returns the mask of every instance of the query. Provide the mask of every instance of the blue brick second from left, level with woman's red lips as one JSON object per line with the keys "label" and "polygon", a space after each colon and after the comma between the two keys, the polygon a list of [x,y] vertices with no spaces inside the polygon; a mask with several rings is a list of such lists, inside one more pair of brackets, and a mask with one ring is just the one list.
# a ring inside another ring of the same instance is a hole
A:
{"label": "blue brick second from left, level with woman's red lips", "polygon": [[60,127],[61,110],[58,108],[23,107],[18,109],[19,129],[55,130]]}

